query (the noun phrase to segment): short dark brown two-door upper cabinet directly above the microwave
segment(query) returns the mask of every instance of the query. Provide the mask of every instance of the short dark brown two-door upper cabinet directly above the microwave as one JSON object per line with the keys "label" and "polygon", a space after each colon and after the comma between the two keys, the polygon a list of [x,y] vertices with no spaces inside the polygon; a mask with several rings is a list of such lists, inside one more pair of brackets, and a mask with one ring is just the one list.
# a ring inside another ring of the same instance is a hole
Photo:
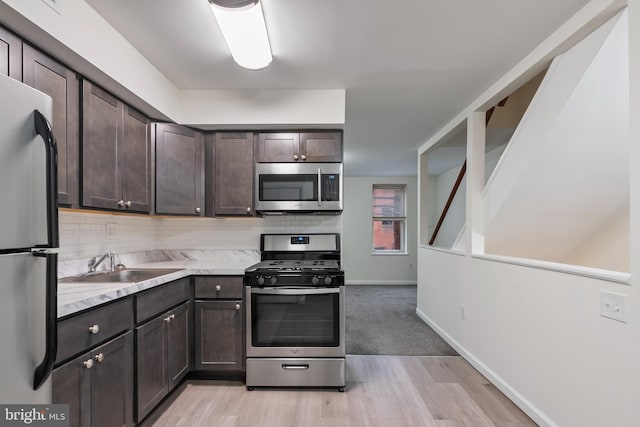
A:
{"label": "short dark brown two-door upper cabinet directly above the microwave", "polygon": [[342,132],[265,132],[258,135],[258,162],[341,162]]}

